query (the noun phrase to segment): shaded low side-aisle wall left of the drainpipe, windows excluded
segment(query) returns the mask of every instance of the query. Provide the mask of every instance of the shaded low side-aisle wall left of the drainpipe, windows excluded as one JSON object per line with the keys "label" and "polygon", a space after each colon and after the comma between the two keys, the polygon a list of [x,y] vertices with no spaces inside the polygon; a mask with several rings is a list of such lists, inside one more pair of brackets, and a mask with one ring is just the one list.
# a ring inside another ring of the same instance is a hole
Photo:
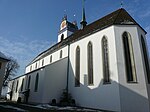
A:
{"label": "shaded low side-aisle wall left of the drainpipe, windows excluded", "polygon": [[[27,89],[28,78],[30,80],[30,93],[29,103],[49,103],[52,99],[56,99],[58,102],[62,94],[63,89],[66,88],[67,84],[67,61],[68,58],[62,58],[61,60],[51,63],[41,69],[31,72],[25,76],[21,76],[14,80],[13,97],[12,101],[17,101],[18,97],[24,99],[24,95],[20,93],[22,79],[24,80],[24,89]],[[39,83],[37,92],[34,91],[36,75],[39,73]],[[16,92],[16,84],[18,83],[18,90]],[[9,84],[12,86],[12,81]],[[10,90],[9,90],[10,91]]]}

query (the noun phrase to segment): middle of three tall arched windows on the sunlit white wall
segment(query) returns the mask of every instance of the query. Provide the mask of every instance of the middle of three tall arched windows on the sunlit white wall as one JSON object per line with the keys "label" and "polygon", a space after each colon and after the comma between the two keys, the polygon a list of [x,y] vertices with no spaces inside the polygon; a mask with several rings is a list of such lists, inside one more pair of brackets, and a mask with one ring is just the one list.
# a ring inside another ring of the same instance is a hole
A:
{"label": "middle of three tall arched windows on the sunlit white wall", "polygon": [[88,57],[88,84],[93,84],[93,47],[92,43],[88,43],[87,57]]}

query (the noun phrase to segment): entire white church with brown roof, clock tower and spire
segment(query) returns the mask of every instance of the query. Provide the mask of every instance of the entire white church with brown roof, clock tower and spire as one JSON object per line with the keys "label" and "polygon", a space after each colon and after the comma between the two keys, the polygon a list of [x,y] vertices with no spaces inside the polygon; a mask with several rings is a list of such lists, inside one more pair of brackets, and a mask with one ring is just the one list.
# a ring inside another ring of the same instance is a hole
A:
{"label": "entire white church with brown roof, clock tower and spire", "polygon": [[10,99],[57,103],[65,89],[77,106],[118,112],[150,111],[146,31],[123,8],[81,29],[63,18],[58,43],[10,81]]}

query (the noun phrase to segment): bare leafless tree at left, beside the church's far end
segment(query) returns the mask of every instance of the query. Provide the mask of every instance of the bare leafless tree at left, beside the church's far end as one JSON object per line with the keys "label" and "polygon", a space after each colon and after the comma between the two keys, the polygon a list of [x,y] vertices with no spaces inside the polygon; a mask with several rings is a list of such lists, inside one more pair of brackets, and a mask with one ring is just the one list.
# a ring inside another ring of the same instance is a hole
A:
{"label": "bare leafless tree at left, beside the church's far end", "polygon": [[8,85],[8,81],[12,79],[19,69],[19,64],[16,59],[10,57],[10,61],[6,65],[6,73],[3,80],[3,87]]}

